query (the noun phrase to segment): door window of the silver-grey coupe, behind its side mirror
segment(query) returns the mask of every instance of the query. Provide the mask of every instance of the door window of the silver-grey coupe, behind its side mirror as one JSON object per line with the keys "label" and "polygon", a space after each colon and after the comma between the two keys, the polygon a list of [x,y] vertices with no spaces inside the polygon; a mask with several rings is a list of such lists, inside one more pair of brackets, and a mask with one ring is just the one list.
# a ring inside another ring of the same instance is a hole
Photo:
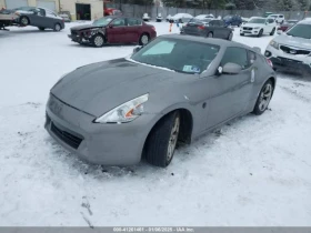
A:
{"label": "door window of the silver-grey coupe, behind its side mirror", "polygon": [[229,62],[240,64],[242,69],[247,69],[249,67],[249,58],[247,50],[238,47],[227,48],[220,65],[223,67]]}

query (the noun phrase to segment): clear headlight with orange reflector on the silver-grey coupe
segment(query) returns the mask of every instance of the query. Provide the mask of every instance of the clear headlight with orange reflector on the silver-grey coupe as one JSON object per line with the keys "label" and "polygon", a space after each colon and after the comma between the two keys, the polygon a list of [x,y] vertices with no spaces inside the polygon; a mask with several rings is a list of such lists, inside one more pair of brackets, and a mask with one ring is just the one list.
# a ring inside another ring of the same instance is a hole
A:
{"label": "clear headlight with orange reflector on the silver-grey coupe", "polygon": [[94,120],[96,123],[126,123],[133,121],[143,113],[143,103],[148,101],[149,94],[143,94],[130,100],[102,116]]}

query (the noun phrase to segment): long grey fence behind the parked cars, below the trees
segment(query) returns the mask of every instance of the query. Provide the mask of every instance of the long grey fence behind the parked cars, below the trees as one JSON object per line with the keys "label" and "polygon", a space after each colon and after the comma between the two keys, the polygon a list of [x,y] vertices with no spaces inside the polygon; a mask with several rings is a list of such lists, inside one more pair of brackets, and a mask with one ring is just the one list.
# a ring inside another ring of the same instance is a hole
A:
{"label": "long grey fence behind the parked cars, below the trees", "polygon": [[[199,14],[212,13],[214,17],[225,17],[228,14],[238,14],[243,18],[262,17],[269,10],[212,10],[212,9],[190,9],[190,8],[165,8],[153,6],[139,6],[139,4],[121,4],[122,12],[127,17],[142,18],[143,13],[148,13],[151,19],[156,19],[159,13],[167,18],[167,16],[174,16],[177,13],[190,13],[195,17]],[[278,11],[275,13],[284,14],[285,19],[302,20],[311,17],[311,13],[305,11]]]}

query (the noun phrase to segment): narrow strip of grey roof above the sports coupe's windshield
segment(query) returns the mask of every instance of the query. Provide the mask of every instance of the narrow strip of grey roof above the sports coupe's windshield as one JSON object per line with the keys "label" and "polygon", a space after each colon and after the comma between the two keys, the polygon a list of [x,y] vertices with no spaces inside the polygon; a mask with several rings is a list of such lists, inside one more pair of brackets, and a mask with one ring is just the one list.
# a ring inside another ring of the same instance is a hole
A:
{"label": "narrow strip of grey roof above the sports coupe's windshield", "polygon": [[223,40],[223,39],[215,39],[215,38],[203,38],[203,37],[195,37],[195,36],[188,36],[188,34],[162,34],[158,38],[168,38],[168,39],[179,39],[179,40],[188,40],[193,42],[201,42],[201,43],[209,43],[213,45],[220,47],[240,47],[248,50],[253,50],[251,47],[248,47],[242,43],[238,43],[234,41]]}

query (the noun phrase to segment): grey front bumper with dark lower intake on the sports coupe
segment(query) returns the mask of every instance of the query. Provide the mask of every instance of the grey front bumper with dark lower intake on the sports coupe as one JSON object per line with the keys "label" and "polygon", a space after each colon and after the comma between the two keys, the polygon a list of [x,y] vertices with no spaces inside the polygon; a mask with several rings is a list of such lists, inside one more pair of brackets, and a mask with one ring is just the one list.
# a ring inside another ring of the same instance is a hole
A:
{"label": "grey front bumper with dark lower intake on the sports coupe", "polygon": [[94,118],[50,95],[44,128],[58,143],[87,162],[103,165],[139,163],[152,115],[141,115],[123,124],[93,123]]}

